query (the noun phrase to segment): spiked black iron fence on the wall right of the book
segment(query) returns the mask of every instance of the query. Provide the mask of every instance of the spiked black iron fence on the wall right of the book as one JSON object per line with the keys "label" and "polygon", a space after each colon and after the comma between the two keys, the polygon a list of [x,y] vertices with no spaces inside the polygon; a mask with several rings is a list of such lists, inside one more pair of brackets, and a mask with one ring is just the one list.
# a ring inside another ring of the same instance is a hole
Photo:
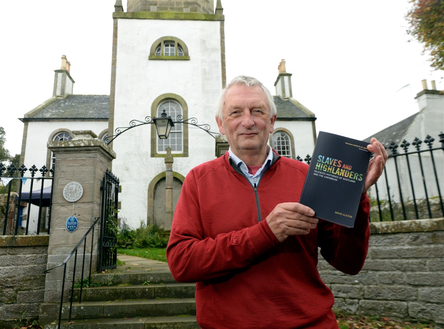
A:
{"label": "spiked black iron fence on the wall right of the book", "polygon": [[429,135],[389,144],[384,174],[369,191],[373,221],[444,217],[444,134],[439,138],[435,148]]}

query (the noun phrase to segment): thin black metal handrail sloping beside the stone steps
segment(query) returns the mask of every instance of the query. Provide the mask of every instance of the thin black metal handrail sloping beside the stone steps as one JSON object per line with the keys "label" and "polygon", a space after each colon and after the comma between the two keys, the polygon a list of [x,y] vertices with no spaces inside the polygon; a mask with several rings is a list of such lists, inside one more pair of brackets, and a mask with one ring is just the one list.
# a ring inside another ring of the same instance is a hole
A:
{"label": "thin black metal handrail sloping beside the stone steps", "polygon": [[89,278],[88,278],[88,284],[91,283],[91,265],[92,265],[92,249],[94,244],[94,227],[97,224],[97,222],[100,220],[100,217],[95,217],[94,223],[91,225],[91,227],[88,229],[87,233],[83,235],[83,237],[80,239],[79,243],[72,249],[71,253],[66,257],[66,259],[59,265],[45,270],[43,273],[49,273],[53,269],[56,269],[60,266],[63,266],[63,281],[62,281],[62,293],[60,297],[60,309],[59,309],[59,325],[58,328],[60,329],[60,322],[62,321],[62,306],[63,306],[63,293],[65,289],[65,278],[66,278],[66,265],[67,262],[71,259],[72,255],[75,255],[74,257],[74,269],[72,271],[72,285],[71,285],[71,301],[69,305],[69,322],[71,322],[71,310],[72,310],[72,300],[74,295],[74,282],[75,282],[75,265],[77,263],[77,249],[79,249],[79,246],[83,244],[83,262],[82,262],[82,277],[80,279],[80,295],[79,295],[79,304],[82,302],[82,289],[83,289],[83,270],[85,267],[85,250],[86,250],[86,237],[87,235],[92,231],[91,233],[91,254],[89,258]]}

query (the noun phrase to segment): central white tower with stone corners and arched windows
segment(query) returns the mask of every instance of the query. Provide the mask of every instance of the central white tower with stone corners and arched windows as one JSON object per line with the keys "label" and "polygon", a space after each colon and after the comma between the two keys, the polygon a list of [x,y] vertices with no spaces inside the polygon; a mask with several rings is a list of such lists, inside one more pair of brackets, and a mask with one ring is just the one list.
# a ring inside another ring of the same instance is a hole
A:
{"label": "central white tower with stone corners and arched windows", "polygon": [[[108,136],[131,120],[196,118],[218,131],[215,103],[226,83],[224,16],[220,0],[116,0]],[[154,124],[132,128],[112,141],[112,171],[120,179],[119,216],[170,229],[165,220],[166,148],[174,161],[173,203],[194,166],[215,158],[214,138],[175,124],[159,139]]]}

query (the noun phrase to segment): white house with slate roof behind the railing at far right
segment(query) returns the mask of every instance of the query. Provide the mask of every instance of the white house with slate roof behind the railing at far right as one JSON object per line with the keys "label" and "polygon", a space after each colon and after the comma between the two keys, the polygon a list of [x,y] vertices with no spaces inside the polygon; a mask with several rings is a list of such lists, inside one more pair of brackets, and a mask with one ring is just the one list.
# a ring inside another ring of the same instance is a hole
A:
{"label": "white house with slate roof behind the railing at far right", "polygon": [[[428,89],[426,80],[423,80],[422,83],[423,90],[416,95],[419,112],[372,135],[387,148],[389,155],[401,154],[401,156],[396,156],[396,164],[394,157],[390,157],[386,164],[389,192],[387,191],[385,176],[381,177],[377,183],[381,200],[388,200],[390,197],[392,201],[399,202],[402,195],[402,200],[405,202],[412,201],[413,196],[416,200],[424,199],[426,192],[428,198],[439,196],[439,192],[441,196],[444,193],[443,152],[440,150],[433,152],[434,169],[431,152],[427,151],[429,147],[426,143],[427,137],[430,136],[434,139],[432,148],[441,147],[439,135],[444,131],[444,93],[436,90],[434,81],[432,81],[431,89]],[[413,144],[416,138],[420,140],[420,150],[425,152],[421,152],[420,157],[418,154],[408,155],[407,162],[403,146],[407,146],[408,153],[416,152],[416,147]],[[366,139],[366,141],[369,140],[370,137]],[[403,144],[404,140],[407,144]],[[396,144],[397,147],[393,148],[392,143]],[[393,150],[396,153],[393,153]],[[396,174],[396,165],[398,175]],[[435,176],[435,170],[437,177]],[[409,172],[412,173],[412,180],[410,180]],[[424,173],[424,177],[422,173]],[[436,183],[436,179],[439,185]],[[438,186],[440,191],[438,191]],[[370,190],[370,195],[376,199],[374,186]]]}

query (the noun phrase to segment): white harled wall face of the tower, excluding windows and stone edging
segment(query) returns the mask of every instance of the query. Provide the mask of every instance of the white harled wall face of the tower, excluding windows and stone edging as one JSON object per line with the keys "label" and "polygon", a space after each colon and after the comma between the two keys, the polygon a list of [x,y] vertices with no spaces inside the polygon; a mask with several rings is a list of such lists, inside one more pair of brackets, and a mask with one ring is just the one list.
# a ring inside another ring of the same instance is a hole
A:
{"label": "white harled wall face of the tower, excluding windows and stone edging", "polygon": [[[148,60],[151,45],[163,36],[181,39],[190,60]],[[214,104],[222,89],[221,67],[219,21],[119,19],[114,129],[143,121],[158,96],[174,93],[186,101],[189,118],[218,132]],[[119,216],[133,228],[147,221],[148,185],[165,171],[164,157],[151,157],[151,126],[132,128],[113,141],[112,171],[122,186]],[[209,134],[189,126],[188,138],[189,156],[174,157],[173,164],[183,176],[215,158]]]}

